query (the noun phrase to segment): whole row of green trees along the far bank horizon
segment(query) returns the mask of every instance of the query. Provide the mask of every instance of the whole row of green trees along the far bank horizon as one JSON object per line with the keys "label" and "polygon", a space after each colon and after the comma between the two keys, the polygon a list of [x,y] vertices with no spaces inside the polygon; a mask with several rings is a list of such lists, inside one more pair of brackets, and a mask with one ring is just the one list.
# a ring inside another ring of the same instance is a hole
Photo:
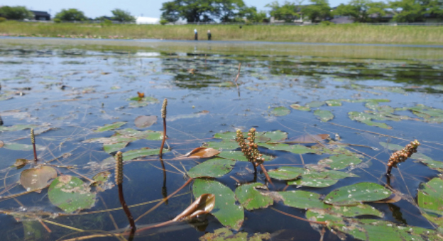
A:
{"label": "whole row of green trees along the far bank horizon", "polygon": [[[163,3],[160,23],[176,22],[180,19],[195,22],[248,22],[261,23],[269,17],[293,22],[310,20],[313,23],[329,20],[334,16],[348,16],[359,23],[395,21],[398,23],[424,22],[427,18],[443,21],[442,0],[350,0],[332,8],[327,0],[273,1],[266,5],[269,11],[257,11],[255,6],[246,6],[243,0],[172,0]],[[112,17],[95,18],[102,21],[135,22],[128,11],[114,9]],[[387,18],[389,16],[389,18]],[[33,13],[24,6],[2,6],[0,17],[13,20],[31,19]],[[78,9],[62,9],[55,14],[54,21],[86,21],[88,18]]]}

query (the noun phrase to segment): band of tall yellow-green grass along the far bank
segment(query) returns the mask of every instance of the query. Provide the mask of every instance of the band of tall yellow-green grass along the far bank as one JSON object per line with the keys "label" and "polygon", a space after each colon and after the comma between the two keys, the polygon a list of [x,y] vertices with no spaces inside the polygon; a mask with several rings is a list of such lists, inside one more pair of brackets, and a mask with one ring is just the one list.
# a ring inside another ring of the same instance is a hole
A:
{"label": "band of tall yellow-green grass along the far bank", "polygon": [[99,23],[0,23],[1,36],[163,39],[193,40],[197,29],[199,40],[247,40],[300,43],[379,43],[441,45],[443,26],[376,26],[364,24],[272,26],[272,25],[136,25]]}

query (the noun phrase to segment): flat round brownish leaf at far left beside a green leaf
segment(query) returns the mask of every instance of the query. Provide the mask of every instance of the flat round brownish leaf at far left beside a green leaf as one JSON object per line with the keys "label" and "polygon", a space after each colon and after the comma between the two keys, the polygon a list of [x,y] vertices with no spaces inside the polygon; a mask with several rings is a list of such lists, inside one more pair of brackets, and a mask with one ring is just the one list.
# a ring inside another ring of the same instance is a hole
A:
{"label": "flat round brownish leaf at far left beside a green leaf", "polygon": [[48,181],[56,177],[57,171],[53,167],[35,167],[21,172],[20,183],[27,191],[31,191],[49,186]]}

